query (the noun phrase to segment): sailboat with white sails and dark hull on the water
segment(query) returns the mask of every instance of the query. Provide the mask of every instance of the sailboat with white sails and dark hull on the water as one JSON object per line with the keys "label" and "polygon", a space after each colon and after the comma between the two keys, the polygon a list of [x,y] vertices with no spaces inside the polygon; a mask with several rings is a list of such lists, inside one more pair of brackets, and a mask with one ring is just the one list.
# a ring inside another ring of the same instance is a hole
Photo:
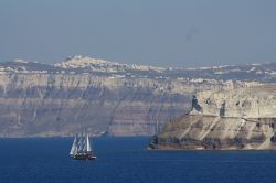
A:
{"label": "sailboat with white sails and dark hull on the water", "polygon": [[88,134],[75,136],[70,155],[75,160],[95,160]]}

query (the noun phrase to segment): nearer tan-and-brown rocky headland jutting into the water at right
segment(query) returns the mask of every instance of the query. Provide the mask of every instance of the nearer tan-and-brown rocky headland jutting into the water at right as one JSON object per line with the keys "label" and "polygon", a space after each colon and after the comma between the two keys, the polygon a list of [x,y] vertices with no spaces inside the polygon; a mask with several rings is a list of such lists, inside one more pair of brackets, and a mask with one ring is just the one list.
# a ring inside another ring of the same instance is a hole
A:
{"label": "nearer tan-and-brown rocky headland jutting into the water at right", "polygon": [[202,92],[190,114],[166,123],[153,149],[276,149],[276,86]]}

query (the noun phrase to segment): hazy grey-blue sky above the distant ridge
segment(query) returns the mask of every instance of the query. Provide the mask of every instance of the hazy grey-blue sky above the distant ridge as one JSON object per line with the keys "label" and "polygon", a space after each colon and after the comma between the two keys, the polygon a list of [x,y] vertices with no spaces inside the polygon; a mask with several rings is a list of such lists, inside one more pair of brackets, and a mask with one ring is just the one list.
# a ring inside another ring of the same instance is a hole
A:
{"label": "hazy grey-blue sky above the distant ridge", "polygon": [[276,0],[0,0],[0,61],[276,62]]}

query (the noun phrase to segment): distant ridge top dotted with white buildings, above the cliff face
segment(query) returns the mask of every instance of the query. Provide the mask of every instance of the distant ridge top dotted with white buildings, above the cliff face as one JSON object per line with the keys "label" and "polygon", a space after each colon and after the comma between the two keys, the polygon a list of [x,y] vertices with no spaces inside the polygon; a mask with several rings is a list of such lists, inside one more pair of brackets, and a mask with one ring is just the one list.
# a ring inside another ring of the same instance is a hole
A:
{"label": "distant ridge top dotted with white buildings, above the cliff face", "polygon": [[56,64],[43,64],[15,60],[0,63],[3,73],[55,73],[55,74],[88,74],[102,73],[106,75],[119,74],[132,77],[159,78],[193,78],[193,79],[222,79],[222,80],[254,80],[264,83],[276,82],[276,63],[254,63],[246,65],[224,65],[198,68],[156,67],[136,64],[120,64],[116,62],[91,58],[87,56],[67,57]]}

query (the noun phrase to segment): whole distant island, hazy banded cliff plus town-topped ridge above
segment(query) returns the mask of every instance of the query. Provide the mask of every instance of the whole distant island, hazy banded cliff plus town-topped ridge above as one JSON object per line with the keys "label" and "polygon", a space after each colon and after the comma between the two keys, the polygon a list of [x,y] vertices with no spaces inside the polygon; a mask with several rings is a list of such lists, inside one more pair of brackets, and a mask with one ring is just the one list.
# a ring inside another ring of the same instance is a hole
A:
{"label": "whole distant island, hazy banded cliff plus town-topped ridge above", "polygon": [[[246,78],[251,67],[242,69]],[[256,67],[265,73],[259,80],[274,79],[267,65]],[[233,73],[236,67],[230,69]],[[0,136],[72,136],[81,129],[95,136],[155,134],[163,123],[189,111],[198,90],[258,84],[213,79],[217,71],[227,68],[161,68],[82,56],[54,65],[22,60],[0,63]]]}

